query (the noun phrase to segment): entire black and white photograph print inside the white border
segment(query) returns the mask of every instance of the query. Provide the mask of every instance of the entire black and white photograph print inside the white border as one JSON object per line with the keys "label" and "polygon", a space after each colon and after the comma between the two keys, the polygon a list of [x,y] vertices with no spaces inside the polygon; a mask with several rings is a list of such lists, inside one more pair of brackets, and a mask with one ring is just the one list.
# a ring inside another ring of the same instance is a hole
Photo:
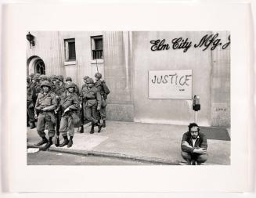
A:
{"label": "entire black and white photograph print inside the white border", "polygon": [[231,37],[27,30],[27,165],[230,165]]}

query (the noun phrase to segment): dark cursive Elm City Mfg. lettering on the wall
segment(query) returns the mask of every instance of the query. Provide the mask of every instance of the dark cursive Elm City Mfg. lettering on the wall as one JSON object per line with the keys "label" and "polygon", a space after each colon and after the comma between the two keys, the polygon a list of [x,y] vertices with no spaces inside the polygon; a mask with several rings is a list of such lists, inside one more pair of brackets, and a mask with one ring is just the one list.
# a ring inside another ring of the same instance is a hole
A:
{"label": "dark cursive Elm City Mfg. lettering on the wall", "polygon": [[192,41],[189,41],[189,38],[174,38],[171,40],[171,44],[166,43],[165,39],[157,39],[151,40],[151,50],[152,51],[161,51],[172,49],[183,49],[183,52],[187,52],[191,47],[193,48],[202,48],[202,50],[206,50],[210,48],[211,50],[215,50],[218,46],[222,46],[222,49],[226,49],[230,45],[230,35],[228,37],[228,41],[222,43],[222,40],[218,38],[217,34],[206,34],[200,41],[196,44],[193,44]]}

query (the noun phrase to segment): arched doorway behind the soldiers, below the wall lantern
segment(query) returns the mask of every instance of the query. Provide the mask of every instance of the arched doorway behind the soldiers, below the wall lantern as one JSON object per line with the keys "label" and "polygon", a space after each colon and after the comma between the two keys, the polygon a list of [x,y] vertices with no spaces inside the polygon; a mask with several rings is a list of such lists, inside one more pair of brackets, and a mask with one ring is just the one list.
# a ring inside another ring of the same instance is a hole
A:
{"label": "arched doorway behind the soldiers, below the wall lantern", "polygon": [[39,56],[27,59],[28,74],[45,74],[45,63]]}

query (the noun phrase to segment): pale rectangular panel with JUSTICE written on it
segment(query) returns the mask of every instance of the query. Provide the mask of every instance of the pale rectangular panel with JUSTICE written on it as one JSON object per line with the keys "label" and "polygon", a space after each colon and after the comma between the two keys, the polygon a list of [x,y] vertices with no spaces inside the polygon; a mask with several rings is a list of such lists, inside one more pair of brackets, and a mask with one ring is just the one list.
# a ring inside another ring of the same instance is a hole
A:
{"label": "pale rectangular panel with JUSTICE written on it", "polygon": [[150,70],[149,99],[192,99],[192,70]]}

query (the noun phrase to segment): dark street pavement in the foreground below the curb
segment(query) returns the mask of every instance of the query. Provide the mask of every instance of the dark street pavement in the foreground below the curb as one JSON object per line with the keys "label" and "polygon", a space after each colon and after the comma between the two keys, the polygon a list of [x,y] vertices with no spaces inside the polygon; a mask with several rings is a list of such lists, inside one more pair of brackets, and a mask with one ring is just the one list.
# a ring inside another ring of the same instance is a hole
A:
{"label": "dark street pavement in the foreground below the curb", "polygon": [[39,151],[27,153],[27,165],[153,165],[110,157],[81,156],[69,153]]}

